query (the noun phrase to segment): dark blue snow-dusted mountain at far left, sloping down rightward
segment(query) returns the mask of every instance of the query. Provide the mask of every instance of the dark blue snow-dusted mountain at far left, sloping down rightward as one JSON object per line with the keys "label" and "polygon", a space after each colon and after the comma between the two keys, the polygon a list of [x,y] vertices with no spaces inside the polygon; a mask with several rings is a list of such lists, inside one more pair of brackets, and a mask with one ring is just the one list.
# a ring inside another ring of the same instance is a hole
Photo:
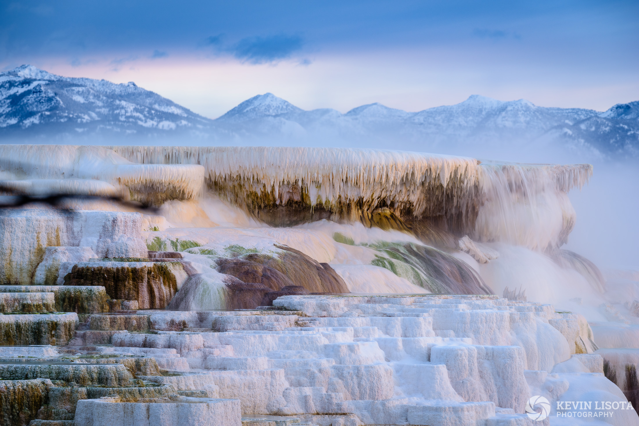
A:
{"label": "dark blue snow-dusted mountain at far left, sloping down rightward", "polygon": [[211,126],[212,120],[134,82],[61,77],[30,65],[0,73],[0,135],[12,139],[197,135]]}

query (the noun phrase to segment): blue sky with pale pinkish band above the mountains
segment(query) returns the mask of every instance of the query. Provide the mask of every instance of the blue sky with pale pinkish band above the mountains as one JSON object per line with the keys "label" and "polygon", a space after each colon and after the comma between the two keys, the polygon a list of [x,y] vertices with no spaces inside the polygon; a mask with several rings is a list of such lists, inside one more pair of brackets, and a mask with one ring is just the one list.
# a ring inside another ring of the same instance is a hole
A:
{"label": "blue sky with pale pinkish band above the mountains", "polygon": [[205,116],[258,93],[420,110],[639,100],[638,1],[1,1],[0,69],[134,80]]}

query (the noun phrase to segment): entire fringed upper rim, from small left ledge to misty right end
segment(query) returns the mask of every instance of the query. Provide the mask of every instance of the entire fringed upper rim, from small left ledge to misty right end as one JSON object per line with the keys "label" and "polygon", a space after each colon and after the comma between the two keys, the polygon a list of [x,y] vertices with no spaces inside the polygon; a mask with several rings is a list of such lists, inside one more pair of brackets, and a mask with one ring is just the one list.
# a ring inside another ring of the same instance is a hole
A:
{"label": "entire fringed upper rim, from small left ledge to misty right end", "polygon": [[361,220],[442,247],[448,245],[431,241],[438,232],[447,232],[440,239],[452,240],[449,248],[468,234],[479,242],[546,250],[567,241],[574,225],[567,191],[592,173],[590,165],[479,164],[374,149],[107,148],[0,146],[0,178],[38,194],[47,188],[88,194],[124,189],[160,204],[193,198],[204,176],[217,195],[272,225]]}

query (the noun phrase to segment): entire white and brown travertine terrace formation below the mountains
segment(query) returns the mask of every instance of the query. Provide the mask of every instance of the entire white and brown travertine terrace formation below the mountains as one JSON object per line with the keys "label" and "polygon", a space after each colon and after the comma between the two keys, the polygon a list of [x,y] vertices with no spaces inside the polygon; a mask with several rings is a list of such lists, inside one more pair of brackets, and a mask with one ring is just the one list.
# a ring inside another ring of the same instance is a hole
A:
{"label": "entire white and brown travertine terrace formation below the mountains", "polygon": [[0,146],[31,197],[0,211],[3,425],[639,425],[639,301],[561,248],[588,165],[25,149]]}

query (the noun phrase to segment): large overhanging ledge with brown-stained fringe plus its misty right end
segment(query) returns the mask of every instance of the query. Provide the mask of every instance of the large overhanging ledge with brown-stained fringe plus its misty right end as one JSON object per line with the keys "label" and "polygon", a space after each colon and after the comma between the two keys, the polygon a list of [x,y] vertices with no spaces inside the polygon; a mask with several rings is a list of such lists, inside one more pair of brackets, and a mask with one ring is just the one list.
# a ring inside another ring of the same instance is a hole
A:
{"label": "large overhanging ledge with brown-stained fringe plus its misty right end", "polygon": [[[332,218],[370,225],[374,211],[390,207],[417,234],[415,221],[431,220],[476,241],[536,250],[566,242],[574,225],[566,194],[592,174],[587,164],[479,164],[472,158],[375,149],[109,148],[145,164],[201,164],[215,192],[270,224]],[[277,212],[287,203],[294,209]],[[306,215],[295,217],[295,209]],[[328,213],[313,216],[313,209]]]}

